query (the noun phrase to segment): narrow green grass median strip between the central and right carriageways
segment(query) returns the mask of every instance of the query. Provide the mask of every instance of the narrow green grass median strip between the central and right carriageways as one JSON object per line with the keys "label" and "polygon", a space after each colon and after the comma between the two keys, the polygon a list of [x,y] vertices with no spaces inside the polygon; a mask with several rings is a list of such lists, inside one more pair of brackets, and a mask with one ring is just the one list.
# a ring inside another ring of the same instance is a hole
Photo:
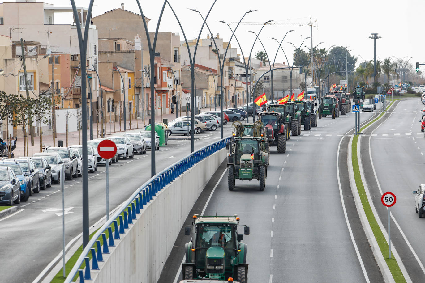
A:
{"label": "narrow green grass median strip between the central and right carriageways", "polygon": [[[389,106],[391,106],[393,102],[391,102]],[[363,126],[361,130],[365,129],[367,126],[369,126],[371,123],[375,122],[377,119],[379,119],[384,113],[381,113],[377,118],[372,120],[370,123]],[[366,217],[368,219],[369,225],[372,229],[372,233],[374,234],[374,237],[378,243],[378,246],[381,250],[382,256],[385,258],[385,262],[388,265],[388,268],[390,269],[391,275],[393,276],[395,282],[402,283],[406,282],[401,269],[397,263],[397,261],[394,259],[394,255],[391,253],[391,259],[388,258],[388,242],[382,233],[377,220],[375,219],[375,216],[372,212],[371,205],[368,201],[365,187],[363,185],[362,179],[360,177],[360,168],[359,168],[359,161],[357,158],[357,141],[359,136],[353,137],[353,142],[351,144],[351,162],[353,165],[353,171],[354,171],[354,181],[356,182],[357,191],[360,196],[360,200],[363,205],[363,210],[365,211]]]}

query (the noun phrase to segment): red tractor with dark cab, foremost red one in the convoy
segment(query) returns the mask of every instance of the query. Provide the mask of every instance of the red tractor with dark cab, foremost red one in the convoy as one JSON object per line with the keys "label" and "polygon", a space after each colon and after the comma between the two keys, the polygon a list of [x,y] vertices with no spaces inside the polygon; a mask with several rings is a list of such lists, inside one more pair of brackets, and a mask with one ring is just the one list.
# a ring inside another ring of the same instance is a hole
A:
{"label": "red tractor with dark cab, foremost red one in the convoy", "polygon": [[277,145],[279,153],[286,152],[286,135],[288,129],[280,120],[279,112],[261,112],[258,118],[263,122],[266,128],[266,138],[270,146]]}

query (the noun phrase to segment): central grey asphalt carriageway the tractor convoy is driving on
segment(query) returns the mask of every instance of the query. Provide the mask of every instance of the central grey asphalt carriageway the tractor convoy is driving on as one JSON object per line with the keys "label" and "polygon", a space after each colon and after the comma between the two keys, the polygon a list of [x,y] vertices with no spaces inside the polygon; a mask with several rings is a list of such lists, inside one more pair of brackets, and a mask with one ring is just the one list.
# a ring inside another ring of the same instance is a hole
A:
{"label": "central grey asphalt carriageway the tractor convoy is driving on", "polygon": [[[360,114],[361,121],[372,115]],[[207,204],[205,215],[238,214],[241,224],[251,228],[251,234],[244,236],[249,282],[366,282],[341,199],[368,279],[383,282],[358,219],[347,174],[341,178],[343,196],[338,186],[338,144],[341,139],[348,142],[346,132],[354,128],[354,114],[323,118],[318,125],[292,136],[285,154],[271,148],[264,191],[258,191],[256,180],[236,180],[235,190],[229,191],[225,174]],[[343,168],[346,163],[340,164]],[[221,176],[223,171],[218,173]],[[202,207],[195,206],[198,209],[193,212],[200,213]],[[181,279],[177,270],[184,251],[180,247],[189,240],[179,235],[159,282]]]}

